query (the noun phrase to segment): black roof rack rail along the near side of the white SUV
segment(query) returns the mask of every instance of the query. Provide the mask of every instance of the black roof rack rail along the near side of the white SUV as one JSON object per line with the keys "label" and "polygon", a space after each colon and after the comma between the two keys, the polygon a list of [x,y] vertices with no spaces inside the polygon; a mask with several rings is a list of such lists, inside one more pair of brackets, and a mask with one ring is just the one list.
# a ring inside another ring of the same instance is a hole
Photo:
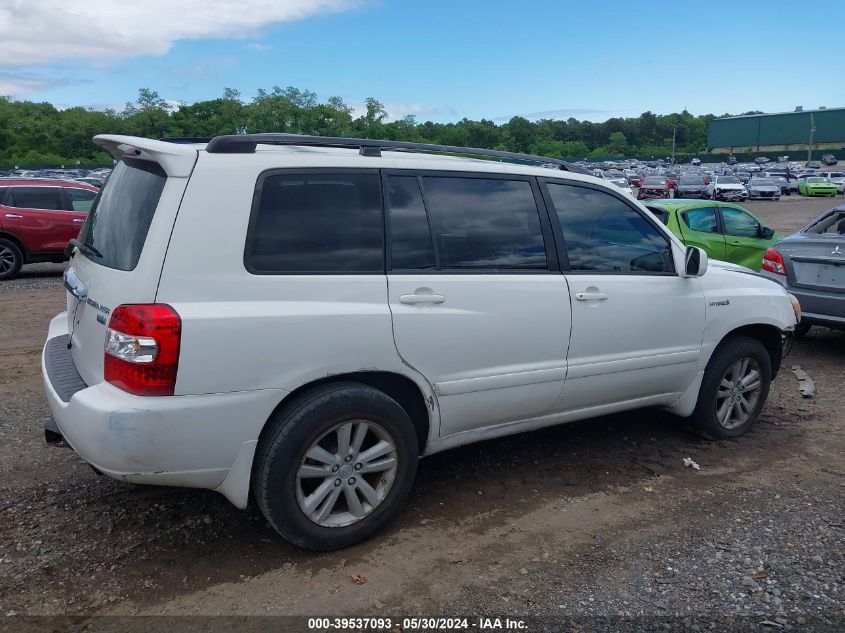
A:
{"label": "black roof rack rail along the near side of the white SUV", "polygon": [[[164,139],[169,140],[169,139]],[[383,141],[365,138],[346,138],[334,136],[307,136],[304,134],[231,134],[215,136],[208,142],[205,151],[211,154],[251,154],[257,145],[299,145],[309,147],[342,147],[357,149],[361,156],[381,156],[382,150],[428,152],[440,154],[458,154],[482,156],[516,162],[554,165],[563,171],[586,174],[587,171],[559,158],[521,154],[519,152],[500,152],[479,147],[460,147],[457,145],[436,145],[431,143],[411,143],[407,141]]]}

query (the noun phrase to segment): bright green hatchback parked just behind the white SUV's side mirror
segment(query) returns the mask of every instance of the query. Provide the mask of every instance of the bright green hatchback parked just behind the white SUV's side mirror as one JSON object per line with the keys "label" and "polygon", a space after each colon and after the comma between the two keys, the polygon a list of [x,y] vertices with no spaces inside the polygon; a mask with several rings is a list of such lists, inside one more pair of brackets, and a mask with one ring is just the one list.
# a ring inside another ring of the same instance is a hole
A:
{"label": "bright green hatchback parked just behind the white SUV's side mirror", "polygon": [[646,205],[687,246],[703,248],[708,257],[759,271],[763,254],[783,236],[730,202],[650,200]]}

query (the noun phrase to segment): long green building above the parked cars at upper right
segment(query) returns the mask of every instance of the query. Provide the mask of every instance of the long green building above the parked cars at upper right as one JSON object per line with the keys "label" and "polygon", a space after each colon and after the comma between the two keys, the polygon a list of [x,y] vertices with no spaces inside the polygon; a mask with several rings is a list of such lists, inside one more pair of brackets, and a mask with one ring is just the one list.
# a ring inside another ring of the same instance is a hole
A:
{"label": "long green building above the parked cars at upper right", "polygon": [[707,147],[715,154],[806,150],[811,142],[813,150],[845,149],[845,108],[749,114],[707,126]]}

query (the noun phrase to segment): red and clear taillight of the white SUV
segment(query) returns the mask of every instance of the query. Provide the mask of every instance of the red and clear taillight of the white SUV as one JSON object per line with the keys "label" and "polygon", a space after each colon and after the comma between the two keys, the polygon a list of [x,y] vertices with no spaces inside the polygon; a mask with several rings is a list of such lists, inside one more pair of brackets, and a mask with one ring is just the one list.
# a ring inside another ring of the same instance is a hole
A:
{"label": "red and clear taillight of the white SUV", "polygon": [[115,308],[106,331],[103,378],[138,396],[172,396],[182,319],[165,304]]}

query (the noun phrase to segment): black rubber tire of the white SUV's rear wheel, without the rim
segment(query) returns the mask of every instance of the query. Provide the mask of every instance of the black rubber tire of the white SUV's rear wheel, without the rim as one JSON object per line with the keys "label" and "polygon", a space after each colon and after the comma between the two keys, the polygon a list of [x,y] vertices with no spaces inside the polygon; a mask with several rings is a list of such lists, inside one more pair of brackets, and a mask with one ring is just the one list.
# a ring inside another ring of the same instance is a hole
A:
{"label": "black rubber tire of the white SUV's rear wheel, without the rim", "polygon": [[[306,451],[345,421],[375,422],[396,449],[396,471],[387,495],[351,525],[326,527],[312,521],[297,501],[297,471]],[[405,410],[382,391],[361,383],[316,387],[284,406],[268,422],[256,450],[252,489],[259,508],[285,539],[311,550],[329,551],[367,540],[400,511],[417,470],[419,447]]]}

